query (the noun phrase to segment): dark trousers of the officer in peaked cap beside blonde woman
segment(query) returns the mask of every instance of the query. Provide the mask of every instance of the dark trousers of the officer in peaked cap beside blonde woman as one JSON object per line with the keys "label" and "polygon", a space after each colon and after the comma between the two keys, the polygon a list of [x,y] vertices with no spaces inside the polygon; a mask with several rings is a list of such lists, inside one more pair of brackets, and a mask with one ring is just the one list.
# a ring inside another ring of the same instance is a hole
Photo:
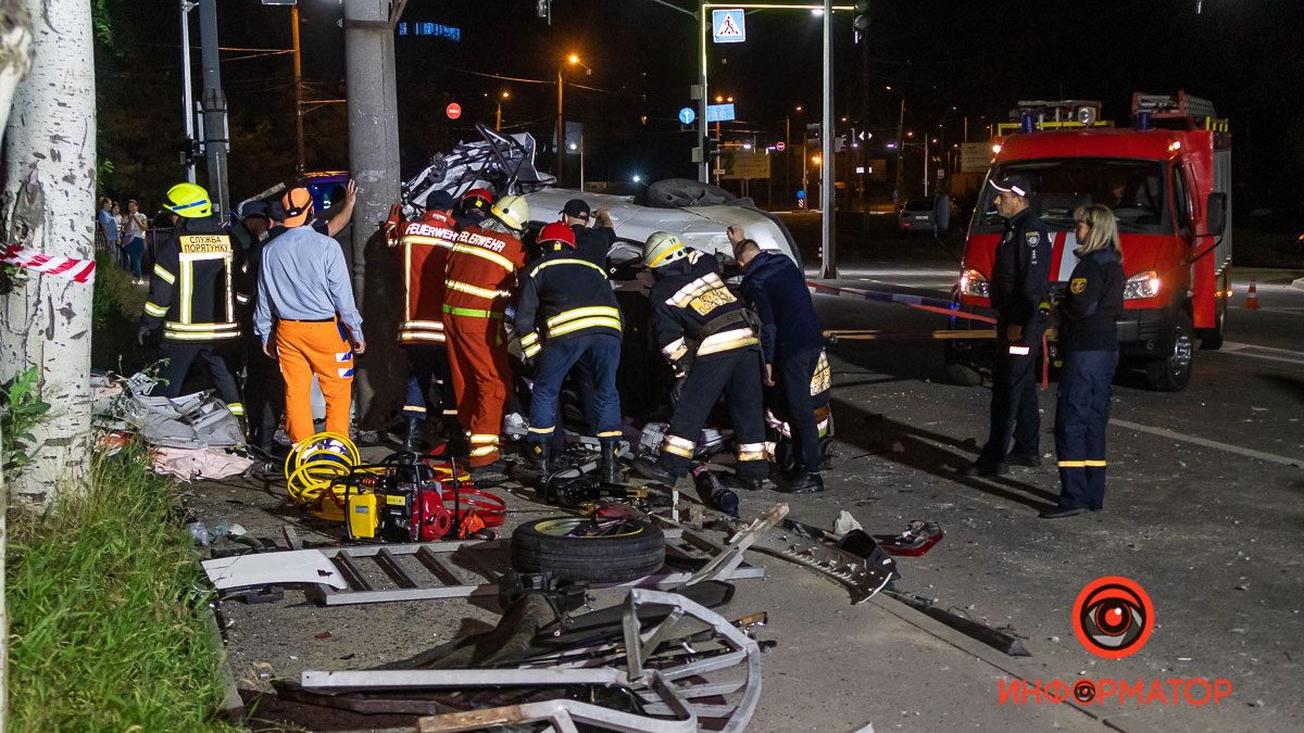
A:
{"label": "dark trousers of the officer in peaked cap beside blonde woman", "polygon": [[[998,323],[996,330],[1004,333],[1004,325]],[[1024,344],[1016,346],[1028,346],[1026,355],[1009,353],[1009,342],[1004,338],[996,340],[996,361],[991,373],[991,429],[987,445],[978,455],[978,464],[986,468],[1007,462],[1005,451],[1012,438],[1012,454],[1041,455],[1037,382],[1042,365],[1042,329],[1029,326],[1024,333]]]}

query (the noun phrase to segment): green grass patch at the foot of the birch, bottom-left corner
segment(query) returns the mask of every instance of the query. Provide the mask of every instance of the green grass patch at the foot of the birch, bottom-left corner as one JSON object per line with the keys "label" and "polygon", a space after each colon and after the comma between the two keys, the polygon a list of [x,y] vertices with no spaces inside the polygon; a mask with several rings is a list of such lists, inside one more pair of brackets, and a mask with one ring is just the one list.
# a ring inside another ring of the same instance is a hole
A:
{"label": "green grass patch at the foot of the birch, bottom-left corner", "polygon": [[96,455],[86,496],[10,513],[10,730],[233,730],[202,571],[143,446]]}

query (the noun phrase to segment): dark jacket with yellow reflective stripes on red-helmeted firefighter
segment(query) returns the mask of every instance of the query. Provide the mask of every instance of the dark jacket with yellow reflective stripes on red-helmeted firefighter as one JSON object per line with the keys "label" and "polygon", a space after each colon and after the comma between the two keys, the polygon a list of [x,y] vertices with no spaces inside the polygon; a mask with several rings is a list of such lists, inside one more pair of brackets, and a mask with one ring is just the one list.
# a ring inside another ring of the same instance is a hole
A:
{"label": "dark jacket with yellow reflective stripes on red-helmeted firefighter", "polygon": [[516,297],[516,334],[526,357],[544,343],[579,335],[621,337],[621,309],[601,267],[570,248],[549,252],[526,269]]}

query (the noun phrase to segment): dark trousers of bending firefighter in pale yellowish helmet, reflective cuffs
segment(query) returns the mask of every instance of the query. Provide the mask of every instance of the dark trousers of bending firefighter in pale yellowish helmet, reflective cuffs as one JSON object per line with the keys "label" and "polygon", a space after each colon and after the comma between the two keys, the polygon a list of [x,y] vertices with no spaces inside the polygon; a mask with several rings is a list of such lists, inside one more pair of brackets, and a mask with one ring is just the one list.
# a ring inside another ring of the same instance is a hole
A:
{"label": "dark trousers of bending firefighter in pale yellowish helmet, reflective cuffs", "polygon": [[694,361],[679,399],[674,403],[670,429],[666,432],[665,442],[661,443],[657,464],[673,476],[689,472],[702,428],[724,395],[729,402],[734,440],[738,442],[738,476],[767,477],[769,464],[765,460],[762,369],[758,347],[712,353]]}

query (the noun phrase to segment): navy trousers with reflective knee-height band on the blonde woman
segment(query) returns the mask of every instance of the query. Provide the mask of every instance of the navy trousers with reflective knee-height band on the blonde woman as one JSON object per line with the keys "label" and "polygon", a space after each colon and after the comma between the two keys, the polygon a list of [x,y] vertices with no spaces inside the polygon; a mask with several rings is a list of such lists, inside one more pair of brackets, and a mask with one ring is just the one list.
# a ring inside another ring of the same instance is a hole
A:
{"label": "navy trousers with reflective knee-height band on the blonde woman", "polygon": [[1055,403],[1061,509],[1104,506],[1104,433],[1118,351],[1068,351]]}

